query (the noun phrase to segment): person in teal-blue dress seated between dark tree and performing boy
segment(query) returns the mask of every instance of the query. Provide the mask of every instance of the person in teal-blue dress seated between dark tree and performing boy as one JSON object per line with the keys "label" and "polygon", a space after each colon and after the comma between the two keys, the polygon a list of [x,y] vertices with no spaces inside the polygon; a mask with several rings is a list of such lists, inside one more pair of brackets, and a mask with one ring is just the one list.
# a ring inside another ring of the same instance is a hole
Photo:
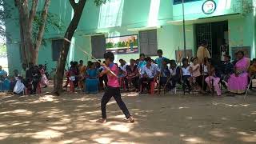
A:
{"label": "person in teal-blue dress seated between dark tree and performing boy", "polygon": [[89,62],[86,70],[86,93],[98,93],[98,84],[98,70],[96,69],[96,64]]}

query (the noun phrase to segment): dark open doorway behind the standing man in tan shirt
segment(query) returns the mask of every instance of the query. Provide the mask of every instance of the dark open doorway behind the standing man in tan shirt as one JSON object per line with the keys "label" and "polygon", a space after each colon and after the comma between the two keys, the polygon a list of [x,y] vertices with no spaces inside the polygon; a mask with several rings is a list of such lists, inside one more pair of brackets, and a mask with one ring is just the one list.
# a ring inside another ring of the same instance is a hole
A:
{"label": "dark open doorway behind the standing man in tan shirt", "polygon": [[196,45],[201,45],[203,40],[209,44],[208,49],[212,58],[221,58],[221,46],[226,46],[229,51],[228,21],[196,24]]}

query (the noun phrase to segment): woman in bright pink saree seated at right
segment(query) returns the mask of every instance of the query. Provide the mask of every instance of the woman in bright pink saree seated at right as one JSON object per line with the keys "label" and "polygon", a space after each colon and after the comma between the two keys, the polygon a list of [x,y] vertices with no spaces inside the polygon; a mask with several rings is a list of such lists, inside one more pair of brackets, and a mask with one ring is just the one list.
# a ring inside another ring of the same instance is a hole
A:
{"label": "woman in bright pink saree seated at right", "polygon": [[247,70],[250,66],[250,59],[245,58],[243,51],[238,51],[237,54],[238,62],[234,66],[234,74],[231,74],[228,80],[228,90],[234,94],[243,94],[248,85]]}

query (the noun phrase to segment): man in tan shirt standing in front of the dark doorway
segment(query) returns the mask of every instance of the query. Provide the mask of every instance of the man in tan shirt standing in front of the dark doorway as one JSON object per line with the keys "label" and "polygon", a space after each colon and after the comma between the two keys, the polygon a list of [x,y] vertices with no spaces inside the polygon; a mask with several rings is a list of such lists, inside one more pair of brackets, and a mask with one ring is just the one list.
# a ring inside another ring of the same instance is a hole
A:
{"label": "man in tan shirt standing in front of the dark doorway", "polygon": [[198,57],[198,63],[200,63],[201,65],[204,58],[210,58],[210,53],[207,47],[208,47],[208,42],[206,42],[205,40],[202,41],[202,45],[198,47],[197,57]]}

